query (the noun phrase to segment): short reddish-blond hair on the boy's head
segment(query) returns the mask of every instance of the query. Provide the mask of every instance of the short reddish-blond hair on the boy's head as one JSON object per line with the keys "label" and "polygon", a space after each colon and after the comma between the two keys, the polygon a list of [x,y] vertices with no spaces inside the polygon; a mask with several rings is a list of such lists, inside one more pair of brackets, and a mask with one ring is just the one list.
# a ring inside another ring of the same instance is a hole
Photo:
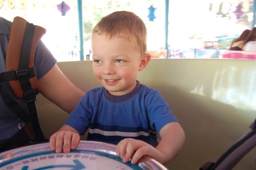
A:
{"label": "short reddish-blond hair on the boy's head", "polygon": [[108,38],[119,36],[135,43],[144,55],[147,50],[147,30],[144,22],[133,12],[117,11],[102,18],[93,28],[92,34],[106,34]]}

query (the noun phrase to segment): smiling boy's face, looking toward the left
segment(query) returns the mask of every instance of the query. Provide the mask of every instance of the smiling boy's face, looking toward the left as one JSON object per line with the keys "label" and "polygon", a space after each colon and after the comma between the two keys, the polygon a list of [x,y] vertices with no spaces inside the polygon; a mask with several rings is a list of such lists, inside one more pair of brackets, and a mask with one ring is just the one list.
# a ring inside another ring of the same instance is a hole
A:
{"label": "smiling boy's face, looking toward the left", "polygon": [[93,73],[112,95],[124,95],[136,86],[138,71],[144,69],[142,56],[125,38],[92,34]]}

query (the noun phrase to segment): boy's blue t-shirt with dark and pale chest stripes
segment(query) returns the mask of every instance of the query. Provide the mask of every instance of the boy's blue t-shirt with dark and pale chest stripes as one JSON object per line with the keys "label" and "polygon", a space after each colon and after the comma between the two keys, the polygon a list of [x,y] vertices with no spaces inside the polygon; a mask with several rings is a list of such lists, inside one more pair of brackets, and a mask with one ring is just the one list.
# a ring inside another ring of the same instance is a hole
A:
{"label": "boy's blue t-shirt with dark and pale chest stripes", "polygon": [[110,95],[104,87],[91,89],[81,98],[66,125],[84,134],[87,140],[118,144],[123,138],[143,140],[156,146],[157,132],[176,121],[168,103],[155,89],[137,81],[126,95]]}

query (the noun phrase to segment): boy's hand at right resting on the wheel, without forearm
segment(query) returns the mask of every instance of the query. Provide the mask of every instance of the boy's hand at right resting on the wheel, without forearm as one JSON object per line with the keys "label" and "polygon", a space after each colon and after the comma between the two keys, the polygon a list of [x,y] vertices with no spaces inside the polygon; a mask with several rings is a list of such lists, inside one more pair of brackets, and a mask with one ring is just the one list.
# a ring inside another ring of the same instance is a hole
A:
{"label": "boy's hand at right resting on the wheel, without forearm", "polygon": [[116,154],[122,158],[123,162],[130,160],[132,164],[136,164],[144,155],[152,158],[161,156],[161,153],[150,144],[133,138],[121,140],[116,146]]}

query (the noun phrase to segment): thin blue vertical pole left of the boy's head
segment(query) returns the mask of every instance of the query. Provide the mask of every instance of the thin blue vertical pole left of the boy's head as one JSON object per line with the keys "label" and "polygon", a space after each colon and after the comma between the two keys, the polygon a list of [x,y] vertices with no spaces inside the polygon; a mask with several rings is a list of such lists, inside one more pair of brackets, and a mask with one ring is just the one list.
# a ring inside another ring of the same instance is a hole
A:
{"label": "thin blue vertical pole left of the boy's head", "polygon": [[82,15],[82,0],[77,0],[78,8],[78,29],[80,40],[80,60],[84,60],[84,29],[83,29],[83,15]]}

